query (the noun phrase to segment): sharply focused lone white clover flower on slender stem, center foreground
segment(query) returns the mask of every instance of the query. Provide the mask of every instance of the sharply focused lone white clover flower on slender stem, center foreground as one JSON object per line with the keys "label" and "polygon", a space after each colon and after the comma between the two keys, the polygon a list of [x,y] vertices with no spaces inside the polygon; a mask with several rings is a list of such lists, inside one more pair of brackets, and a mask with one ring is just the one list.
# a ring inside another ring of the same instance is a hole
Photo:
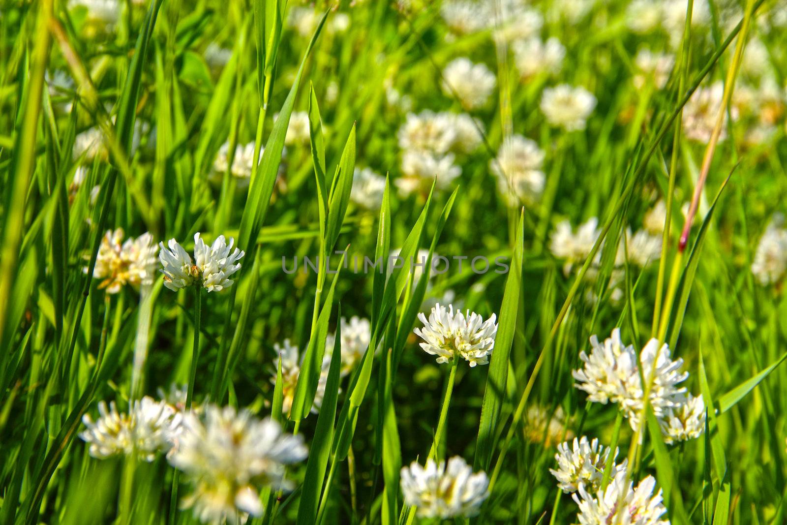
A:
{"label": "sharply focused lone white clover flower on slender stem, center foreground", "polygon": [[488,364],[489,356],[494,347],[497,335],[495,314],[483,320],[475,312],[467,310],[464,314],[448,309],[438,303],[431,310],[429,319],[419,312],[418,319],[423,328],[415,332],[424,342],[420,343],[424,352],[437,356],[438,363],[449,363],[462,357],[470,363],[471,368],[477,364]]}

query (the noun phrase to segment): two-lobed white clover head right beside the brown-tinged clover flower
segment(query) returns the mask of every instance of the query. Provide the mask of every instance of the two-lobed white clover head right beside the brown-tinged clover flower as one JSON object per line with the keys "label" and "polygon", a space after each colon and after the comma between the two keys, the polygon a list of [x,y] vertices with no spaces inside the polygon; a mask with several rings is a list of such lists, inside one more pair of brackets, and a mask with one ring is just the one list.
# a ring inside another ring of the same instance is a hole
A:
{"label": "two-lobed white clover head right beside the brown-tinged clover flower", "polygon": [[238,261],[246,255],[238,248],[233,250],[234,238],[230,238],[227,245],[224,235],[219,235],[211,246],[207,246],[199,232],[194,234],[194,261],[174,238],[169,239],[169,249],[164,248],[164,242],[159,242],[159,246],[164,286],[173,291],[192,284],[205,287],[209,292],[231,287],[235,281],[229,277],[238,272],[241,268]]}

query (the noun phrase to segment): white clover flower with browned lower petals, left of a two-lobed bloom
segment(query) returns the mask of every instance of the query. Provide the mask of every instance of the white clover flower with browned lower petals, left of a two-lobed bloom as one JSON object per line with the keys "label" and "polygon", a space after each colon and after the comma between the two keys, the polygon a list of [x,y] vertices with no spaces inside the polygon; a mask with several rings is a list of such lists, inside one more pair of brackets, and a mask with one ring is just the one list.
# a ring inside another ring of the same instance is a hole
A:
{"label": "white clover flower with browned lower petals, left of a two-lobed bloom", "polygon": [[146,232],[123,242],[124,236],[123,228],[108,230],[98,246],[93,277],[102,279],[98,288],[107,294],[118,293],[126,284],[152,284],[156,275],[158,247],[153,243],[153,235]]}

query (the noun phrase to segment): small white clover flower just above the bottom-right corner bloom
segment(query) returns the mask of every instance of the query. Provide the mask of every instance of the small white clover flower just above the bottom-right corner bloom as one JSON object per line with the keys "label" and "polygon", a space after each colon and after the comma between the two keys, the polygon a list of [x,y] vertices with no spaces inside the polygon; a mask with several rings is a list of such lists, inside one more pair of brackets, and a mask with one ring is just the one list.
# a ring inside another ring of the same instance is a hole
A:
{"label": "small white clover flower just above the bottom-right corner bloom", "polygon": [[[609,447],[599,445],[598,438],[588,441],[586,436],[574,438],[573,447],[571,443],[564,442],[557,446],[555,460],[557,470],[549,469],[557,479],[557,486],[565,494],[576,492],[582,485],[590,493],[597,492],[601,487],[601,480],[604,479],[604,468],[609,458]],[[618,449],[612,454],[612,471],[610,479],[615,479],[619,472],[626,471],[628,460],[623,463],[615,464],[618,456]]]}

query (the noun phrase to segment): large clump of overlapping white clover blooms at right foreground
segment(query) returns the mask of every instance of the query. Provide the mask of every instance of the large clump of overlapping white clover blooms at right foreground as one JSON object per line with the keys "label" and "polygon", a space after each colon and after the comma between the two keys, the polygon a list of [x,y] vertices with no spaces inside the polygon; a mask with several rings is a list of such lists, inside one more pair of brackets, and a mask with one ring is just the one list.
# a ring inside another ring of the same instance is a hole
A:
{"label": "large clump of overlapping white clover blooms at right foreground", "polygon": [[[700,435],[704,429],[704,410],[697,410],[698,405],[693,405],[689,412],[682,412],[689,397],[679,383],[685,381],[689,373],[681,372],[682,359],[671,359],[667,344],[660,346],[658,339],[652,338],[637,356],[633,345],[623,344],[619,328],[615,328],[611,337],[603,343],[593,335],[590,344],[593,349],[589,354],[584,351],[579,354],[584,367],[571,372],[577,381],[575,386],[586,391],[588,401],[604,405],[617,403],[636,431],[645,400],[642,382],[652,381],[648,398],[656,419],[669,423],[671,417],[678,413],[688,414],[695,417],[695,421],[684,421],[683,427],[693,431],[685,432],[682,437],[674,434],[674,438],[688,439]],[[702,402],[702,397],[692,399],[699,400],[692,401],[694,404]]]}

